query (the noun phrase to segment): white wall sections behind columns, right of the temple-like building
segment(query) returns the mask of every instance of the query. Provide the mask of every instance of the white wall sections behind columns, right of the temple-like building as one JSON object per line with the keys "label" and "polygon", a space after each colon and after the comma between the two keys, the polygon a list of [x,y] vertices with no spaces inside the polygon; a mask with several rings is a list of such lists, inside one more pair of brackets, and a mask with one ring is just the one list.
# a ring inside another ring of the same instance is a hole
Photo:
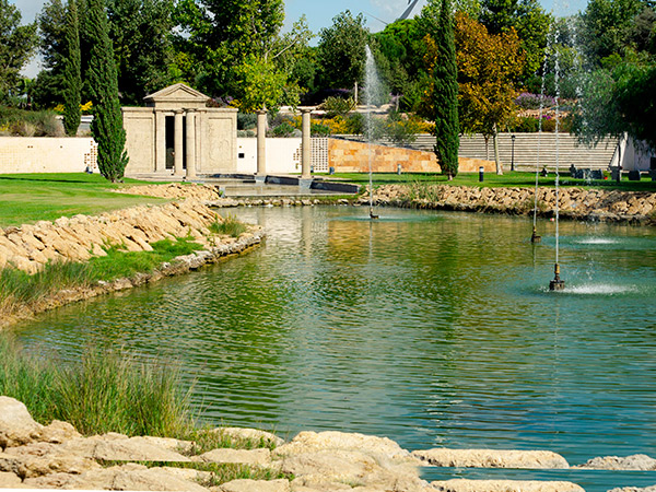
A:
{"label": "white wall sections behind columns, right of the temple-like building", "polygon": [[[301,139],[267,139],[267,174],[301,173]],[[237,173],[257,172],[257,139],[237,139]]]}

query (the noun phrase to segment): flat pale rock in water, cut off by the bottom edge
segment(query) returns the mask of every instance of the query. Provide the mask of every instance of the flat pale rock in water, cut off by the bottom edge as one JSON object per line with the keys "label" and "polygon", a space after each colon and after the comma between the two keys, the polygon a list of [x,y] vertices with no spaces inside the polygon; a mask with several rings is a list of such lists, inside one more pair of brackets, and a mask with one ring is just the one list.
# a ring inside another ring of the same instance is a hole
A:
{"label": "flat pale rock in water, cut off by the bottom edge", "polygon": [[431,482],[441,492],[585,492],[572,482],[454,479]]}

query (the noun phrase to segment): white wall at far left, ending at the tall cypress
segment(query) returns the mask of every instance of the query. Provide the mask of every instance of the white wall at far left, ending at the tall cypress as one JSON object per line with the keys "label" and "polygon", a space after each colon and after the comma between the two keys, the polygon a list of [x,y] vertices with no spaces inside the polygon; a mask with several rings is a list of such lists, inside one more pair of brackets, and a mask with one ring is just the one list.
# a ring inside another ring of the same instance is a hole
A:
{"label": "white wall at far left, ending at the tall cypress", "polygon": [[0,174],[97,173],[97,145],[90,137],[0,137]]}

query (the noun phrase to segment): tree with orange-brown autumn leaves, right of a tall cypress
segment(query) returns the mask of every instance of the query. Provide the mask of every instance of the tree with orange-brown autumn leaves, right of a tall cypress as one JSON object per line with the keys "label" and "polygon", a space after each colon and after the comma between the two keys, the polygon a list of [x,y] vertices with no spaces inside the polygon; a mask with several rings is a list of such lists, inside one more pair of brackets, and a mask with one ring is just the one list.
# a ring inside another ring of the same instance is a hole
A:
{"label": "tree with orange-brown autumn leaves, right of a tall cypress", "polygon": [[515,82],[525,68],[525,54],[514,28],[492,35],[484,25],[465,14],[456,14],[456,48],[460,103],[460,125],[467,132],[481,132],[494,142],[496,134],[515,114]]}

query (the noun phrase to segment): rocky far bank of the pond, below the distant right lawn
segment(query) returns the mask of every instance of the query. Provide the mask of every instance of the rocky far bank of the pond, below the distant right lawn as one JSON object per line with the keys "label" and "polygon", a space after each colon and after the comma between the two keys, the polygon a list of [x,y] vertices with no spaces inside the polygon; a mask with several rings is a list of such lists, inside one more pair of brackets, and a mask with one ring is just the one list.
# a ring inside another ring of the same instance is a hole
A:
{"label": "rocky far bank of the pond, below the distant right lawn", "polygon": [[[230,207],[301,207],[314,204],[368,206],[368,191],[353,198],[223,198],[219,188],[211,185],[144,185],[122,189],[121,192],[159,198],[194,198],[214,208]],[[531,214],[535,207],[532,188],[484,188],[475,186],[384,185],[374,189],[376,207],[450,210],[462,212]],[[591,222],[616,222],[656,225],[656,192],[618,191],[593,188],[561,188],[560,218]],[[537,213],[552,218],[555,209],[555,190],[538,190]]]}

